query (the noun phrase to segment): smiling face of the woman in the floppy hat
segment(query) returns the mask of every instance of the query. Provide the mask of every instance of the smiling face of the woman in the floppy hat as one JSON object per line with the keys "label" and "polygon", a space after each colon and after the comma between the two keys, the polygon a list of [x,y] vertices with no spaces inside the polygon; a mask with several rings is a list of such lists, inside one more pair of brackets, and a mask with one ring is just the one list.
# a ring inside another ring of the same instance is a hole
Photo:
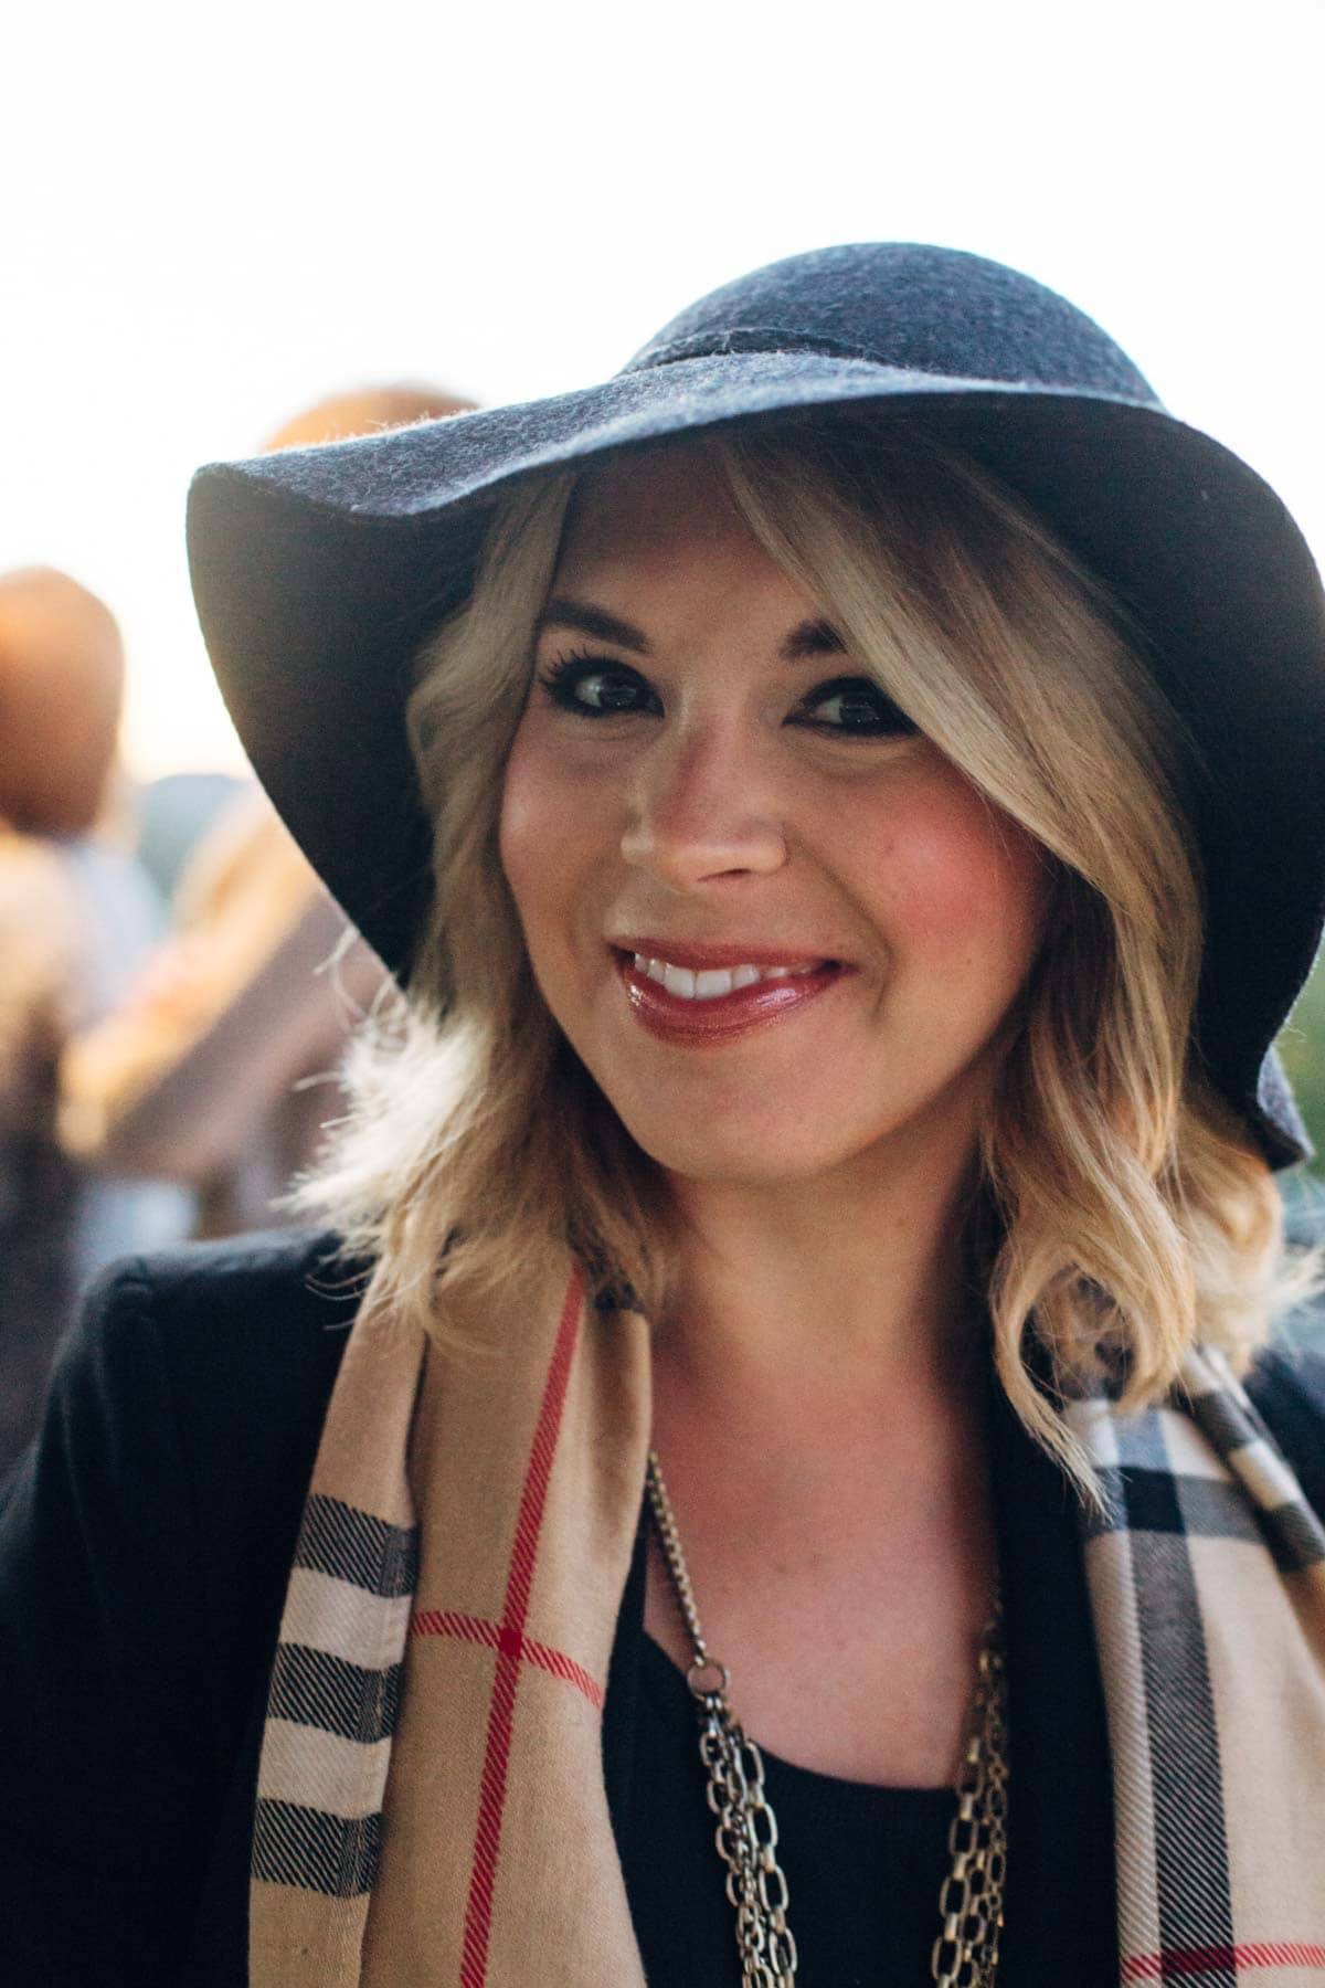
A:
{"label": "smiling face of the woman in the floppy hat", "polygon": [[501,857],[552,1016],[660,1165],[773,1183],[971,1151],[1047,869],[701,449],[580,483]]}

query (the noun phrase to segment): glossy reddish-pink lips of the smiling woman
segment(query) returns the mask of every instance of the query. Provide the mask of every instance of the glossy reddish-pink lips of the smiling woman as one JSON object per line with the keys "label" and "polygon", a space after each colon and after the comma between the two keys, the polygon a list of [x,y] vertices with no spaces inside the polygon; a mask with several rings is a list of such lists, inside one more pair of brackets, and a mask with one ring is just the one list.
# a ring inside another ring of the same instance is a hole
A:
{"label": "glossy reddish-pink lips of the smiling woman", "polygon": [[[648,940],[656,950],[646,952],[644,944],[634,944],[630,952],[614,946],[616,970],[626,988],[626,1000],[634,1018],[662,1042],[685,1048],[721,1048],[749,1036],[757,1028],[783,1022],[838,986],[850,974],[848,966],[836,960],[810,954],[795,958],[787,952],[755,946],[679,946],[675,940],[667,948],[658,940]],[[669,994],[648,974],[636,972],[634,954],[652,960],[669,960],[673,966],[689,966],[701,972],[705,966],[810,966],[791,980],[761,980],[751,988],[735,988],[719,994],[717,1000],[685,1000]],[[763,952],[763,958],[761,958]]]}

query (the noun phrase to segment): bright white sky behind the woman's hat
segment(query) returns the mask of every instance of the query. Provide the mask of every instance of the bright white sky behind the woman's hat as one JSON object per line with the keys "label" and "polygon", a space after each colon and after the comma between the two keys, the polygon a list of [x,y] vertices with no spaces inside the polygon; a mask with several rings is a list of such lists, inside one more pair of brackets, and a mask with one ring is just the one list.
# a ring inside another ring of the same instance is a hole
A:
{"label": "bright white sky behind the woman's hat", "polygon": [[238,765],[201,461],[371,380],[522,400],[832,241],[1019,264],[1325,557],[1325,0],[48,0],[0,30],[0,569],[75,573],[127,753]]}

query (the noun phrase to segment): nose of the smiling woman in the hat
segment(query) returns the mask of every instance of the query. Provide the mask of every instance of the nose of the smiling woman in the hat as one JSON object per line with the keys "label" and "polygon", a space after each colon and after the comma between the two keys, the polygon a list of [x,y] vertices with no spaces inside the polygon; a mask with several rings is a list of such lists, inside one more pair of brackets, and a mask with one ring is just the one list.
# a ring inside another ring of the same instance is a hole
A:
{"label": "nose of the smiling woman in the hat", "polygon": [[638,769],[622,857],[675,891],[771,877],[787,837],[757,751],[719,734],[675,738]]}

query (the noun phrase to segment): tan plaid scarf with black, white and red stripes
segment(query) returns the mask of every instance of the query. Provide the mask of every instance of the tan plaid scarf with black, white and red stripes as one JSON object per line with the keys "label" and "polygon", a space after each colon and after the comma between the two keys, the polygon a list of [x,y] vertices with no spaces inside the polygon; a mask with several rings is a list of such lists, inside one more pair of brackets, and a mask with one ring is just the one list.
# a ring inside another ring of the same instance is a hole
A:
{"label": "tan plaid scarf with black, white and red stripes", "polygon": [[[602,1706],[650,1433],[578,1272],[439,1350],[366,1304],[270,1684],[252,1988],[644,1988]],[[1224,1360],[1071,1411],[1120,1982],[1325,1984],[1325,1531]],[[383,1855],[383,1823],[389,1831]]]}

